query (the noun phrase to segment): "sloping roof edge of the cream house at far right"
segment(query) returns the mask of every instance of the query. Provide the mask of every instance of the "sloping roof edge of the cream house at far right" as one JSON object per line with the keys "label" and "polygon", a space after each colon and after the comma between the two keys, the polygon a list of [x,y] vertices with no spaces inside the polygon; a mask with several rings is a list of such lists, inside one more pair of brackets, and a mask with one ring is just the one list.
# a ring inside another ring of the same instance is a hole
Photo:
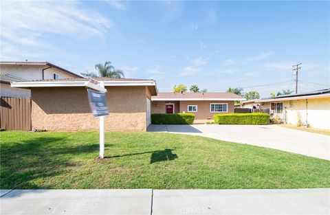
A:
{"label": "sloping roof edge of the cream house at far right", "polygon": [[247,104],[247,103],[260,103],[260,102],[280,102],[280,101],[302,100],[302,99],[313,99],[313,98],[330,98],[330,89],[320,89],[318,91],[311,91],[307,93],[280,95],[274,98],[261,98],[259,100],[248,100],[242,103]]}

